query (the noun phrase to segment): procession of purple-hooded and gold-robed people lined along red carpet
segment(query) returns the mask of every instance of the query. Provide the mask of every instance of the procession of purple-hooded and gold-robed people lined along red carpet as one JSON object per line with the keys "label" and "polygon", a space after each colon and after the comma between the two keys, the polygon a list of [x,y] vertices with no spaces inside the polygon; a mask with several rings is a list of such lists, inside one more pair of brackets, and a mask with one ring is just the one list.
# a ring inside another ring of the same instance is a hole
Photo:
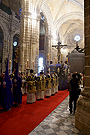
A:
{"label": "procession of purple-hooded and gold-robed people lined along red carpet", "polygon": [[55,72],[46,75],[40,72],[39,76],[30,70],[30,74],[20,73],[18,63],[16,70],[10,75],[8,62],[6,71],[0,78],[0,106],[3,111],[11,110],[11,107],[19,107],[22,103],[22,95],[27,94],[26,103],[34,103],[36,100],[50,97],[58,92],[58,76]]}

